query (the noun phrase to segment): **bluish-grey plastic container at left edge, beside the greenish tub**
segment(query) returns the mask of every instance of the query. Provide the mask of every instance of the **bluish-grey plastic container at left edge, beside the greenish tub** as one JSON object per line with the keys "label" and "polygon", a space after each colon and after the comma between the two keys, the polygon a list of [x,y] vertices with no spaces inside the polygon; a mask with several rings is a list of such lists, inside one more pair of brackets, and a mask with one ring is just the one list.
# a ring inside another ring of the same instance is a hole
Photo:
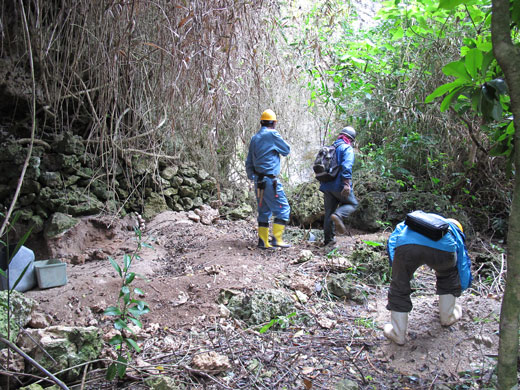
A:
{"label": "bluish-grey plastic container at left edge, beside the greenish tub", "polygon": [[[15,282],[18,280],[25,267],[27,267],[27,271],[25,271],[23,277],[16,285],[15,290],[24,292],[34,288],[34,286],[36,286],[36,278],[34,275],[34,252],[25,246],[20,247],[9,263],[9,272],[7,272],[7,262],[9,259],[7,258],[6,249],[7,248],[4,247],[0,251],[0,267],[7,273],[9,282],[6,277],[0,275],[0,289],[12,290]],[[9,247],[10,251],[14,251],[14,249],[15,245]]]}

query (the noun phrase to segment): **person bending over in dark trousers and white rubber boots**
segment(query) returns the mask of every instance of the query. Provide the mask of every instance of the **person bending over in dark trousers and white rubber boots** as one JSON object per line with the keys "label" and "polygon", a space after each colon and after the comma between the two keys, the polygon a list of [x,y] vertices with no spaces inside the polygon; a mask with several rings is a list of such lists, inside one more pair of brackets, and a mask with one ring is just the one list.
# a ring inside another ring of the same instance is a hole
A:
{"label": "person bending over in dark trousers and white rubber boots", "polygon": [[398,345],[405,344],[408,313],[412,310],[410,280],[421,265],[435,270],[441,325],[450,326],[462,317],[456,298],[471,285],[471,260],[462,225],[455,219],[438,217],[449,224],[448,232],[438,241],[412,230],[405,222],[399,223],[388,239],[392,281],[386,308],[391,317],[383,333]]}

